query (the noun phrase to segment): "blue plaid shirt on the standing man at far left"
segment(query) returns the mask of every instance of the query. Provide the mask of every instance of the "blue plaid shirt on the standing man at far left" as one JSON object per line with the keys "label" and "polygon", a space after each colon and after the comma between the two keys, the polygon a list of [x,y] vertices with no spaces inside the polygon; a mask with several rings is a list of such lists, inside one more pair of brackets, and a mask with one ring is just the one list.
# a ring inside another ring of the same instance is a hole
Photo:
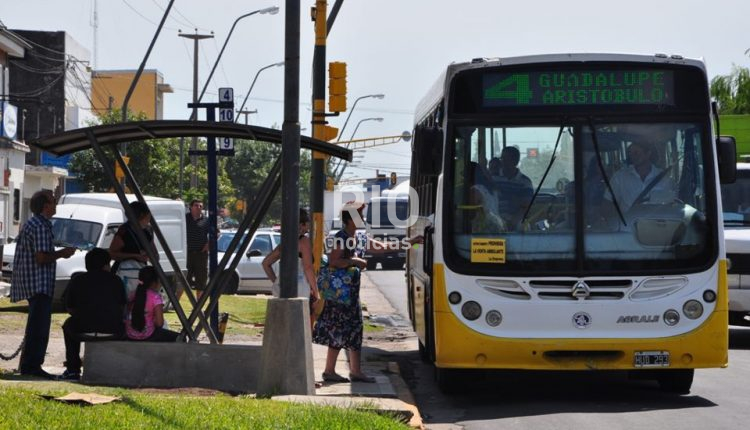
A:
{"label": "blue plaid shirt on the standing man at far left", "polygon": [[13,258],[10,301],[18,302],[37,294],[52,297],[55,292],[57,263],[38,264],[37,252],[55,252],[52,223],[43,215],[34,215],[21,229]]}

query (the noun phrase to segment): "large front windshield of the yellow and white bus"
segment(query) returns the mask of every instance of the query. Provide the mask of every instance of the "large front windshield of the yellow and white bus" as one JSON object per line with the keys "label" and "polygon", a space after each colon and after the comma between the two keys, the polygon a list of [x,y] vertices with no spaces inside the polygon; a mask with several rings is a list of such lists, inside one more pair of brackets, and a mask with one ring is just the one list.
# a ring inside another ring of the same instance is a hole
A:
{"label": "large front windshield of the yellow and white bus", "polygon": [[701,122],[449,129],[446,259],[458,271],[685,271],[716,252]]}

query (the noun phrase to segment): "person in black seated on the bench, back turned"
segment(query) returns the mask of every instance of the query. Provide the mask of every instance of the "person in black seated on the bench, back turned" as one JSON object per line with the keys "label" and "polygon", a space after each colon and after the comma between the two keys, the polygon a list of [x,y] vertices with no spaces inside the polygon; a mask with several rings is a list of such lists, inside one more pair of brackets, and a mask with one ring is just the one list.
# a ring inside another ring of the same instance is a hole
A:
{"label": "person in black seated on the bench, back turned", "polygon": [[60,379],[81,378],[81,342],[116,340],[125,327],[125,286],[111,272],[109,252],[94,248],[86,254],[86,273],[68,283],[65,307],[70,318],[63,324],[65,373]]}

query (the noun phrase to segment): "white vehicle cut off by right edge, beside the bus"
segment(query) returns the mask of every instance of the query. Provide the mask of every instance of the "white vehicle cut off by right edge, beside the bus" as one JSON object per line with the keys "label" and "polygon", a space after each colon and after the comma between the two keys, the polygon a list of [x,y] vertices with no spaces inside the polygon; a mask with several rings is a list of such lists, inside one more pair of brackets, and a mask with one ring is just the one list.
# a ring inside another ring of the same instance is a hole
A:
{"label": "white vehicle cut off by right edge, beside the bus", "polygon": [[737,163],[737,181],[721,185],[724,242],[729,259],[729,323],[750,325],[750,163]]}

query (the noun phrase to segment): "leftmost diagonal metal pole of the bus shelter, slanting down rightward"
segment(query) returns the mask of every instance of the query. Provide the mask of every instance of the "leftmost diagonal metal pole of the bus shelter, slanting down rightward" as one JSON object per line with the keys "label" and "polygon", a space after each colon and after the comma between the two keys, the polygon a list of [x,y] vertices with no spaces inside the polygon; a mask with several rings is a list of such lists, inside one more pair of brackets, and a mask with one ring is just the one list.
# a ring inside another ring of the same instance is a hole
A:
{"label": "leftmost diagonal metal pole of the bus shelter, slanting down rightward", "polygon": [[[115,193],[117,194],[117,197],[120,199],[120,203],[122,204],[122,208],[125,211],[125,215],[128,218],[128,222],[130,223],[130,227],[132,228],[133,232],[135,233],[136,237],[138,238],[138,241],[141,243],[148,243],[148,240],[146,239],[146,235],[143,234],[143,231],[141,230],[140,225],[138,225],[138,220],[135,215],[135,212],[133,209],[130,208],[130,203],[128,202],[127,196],[125,196],[125,191],[123,190],[123,187],[120,185],[119,182],[117,182],[117,177],[115,176],[115,171],[112,167],[112,164],[109,163],[109,159],[107,158],[107,155],[104,153],[104,150],[101,146],[99,146],[99,142],[97,142],[96,137],[94,137],[94,134],[91,131],[87,131],[86,135],[89,138],[89,142],[91,143],[91,147],[94,149],[94,152],[99,159],[99,162],[102,164],[102,167],[104,168],[104,171],[106,172],[107,176],[109,177],[110,181],[114,185]],[[119,151],[115,148],[116,152],[119,153]],[[161,265],[159,264],[159,256],[154,250],[153,247],[147,246],[146,248],[146,254],[148,255],[148,258],[151,260],[151,262],[154,264],[154,268],[156,269],[156,273],[159,275],[159,280],[161,281],[162,285],[165,285],[168,280],[167,276],[164,274],[164,270],[162,270]],[[182,307],[179,306],[179,303],[177,302],[177,298],[174,295],[174,292],[167,288],[167,295],[169,296],[169,299],[175,303],[175,313],[177,313],[177,317],[180,319],[180,323],[182,323],[182,326],[184,329],[186,329],[187,335],[190,337],[191,340],[195,340],[195,333],[193,332],[192,328],[187,325],[187,317],[185,316],[185,312],[182,310]]]}

